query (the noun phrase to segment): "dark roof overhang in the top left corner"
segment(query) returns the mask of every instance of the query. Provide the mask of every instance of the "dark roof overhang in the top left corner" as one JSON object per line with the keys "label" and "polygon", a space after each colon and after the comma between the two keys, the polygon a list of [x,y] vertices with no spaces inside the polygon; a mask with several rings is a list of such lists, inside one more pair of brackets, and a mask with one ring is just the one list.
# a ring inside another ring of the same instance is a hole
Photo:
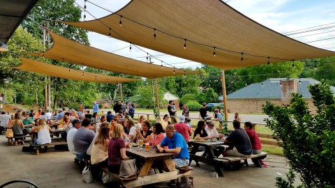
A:
{"label": "dark roof overhang in the top left corner", "polygon": [[0,6],[0,42],[7,43],[38,0],[1,1]]}

